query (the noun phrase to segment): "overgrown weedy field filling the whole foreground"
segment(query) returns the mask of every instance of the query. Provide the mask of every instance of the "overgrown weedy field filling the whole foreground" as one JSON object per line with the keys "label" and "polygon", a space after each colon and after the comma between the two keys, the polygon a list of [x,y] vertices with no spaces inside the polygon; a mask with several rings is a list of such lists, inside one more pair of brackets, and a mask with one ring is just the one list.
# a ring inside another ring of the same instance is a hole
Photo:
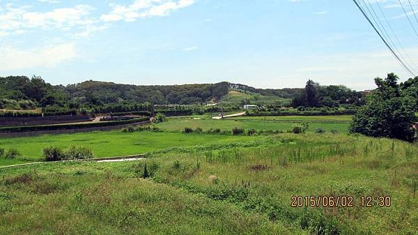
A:
{"label": "overgrown weedy field filling the whole foreground", "polygon": [[[307,133],[185,145],[137,162],[0,169],[0,234],[412,235],[417,153],[392,139]],[[354,206],[294,208],[293,195],[353,196]],[[359,206],[369,195],[391,205]]]}

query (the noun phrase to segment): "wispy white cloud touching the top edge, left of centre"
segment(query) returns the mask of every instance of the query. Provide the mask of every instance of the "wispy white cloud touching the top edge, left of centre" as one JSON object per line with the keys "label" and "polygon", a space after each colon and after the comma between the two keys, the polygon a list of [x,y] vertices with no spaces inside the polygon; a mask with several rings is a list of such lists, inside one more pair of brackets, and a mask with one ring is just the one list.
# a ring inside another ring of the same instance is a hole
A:
{"label": "wispy white cloud touching the top edge, left of centre", "polygon": [[195,0],[135,0],[127,6],[111,5],[111,12],[103,14],[100,19],[104,22],[134,22],[138,18],[170,15],[174,10],[192,6],[194,2]]}

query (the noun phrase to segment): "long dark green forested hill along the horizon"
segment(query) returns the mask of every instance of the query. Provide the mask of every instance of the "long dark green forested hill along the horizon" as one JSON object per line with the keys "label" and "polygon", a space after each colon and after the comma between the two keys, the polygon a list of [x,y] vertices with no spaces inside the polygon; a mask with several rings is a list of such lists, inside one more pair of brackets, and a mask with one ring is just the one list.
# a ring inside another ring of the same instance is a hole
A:
{"label": "long dark green forested hill along the horizon", "polygon": [[71,103],[104,105],[109,103],[194,104],[220,100],[229,89],[241,89],[264,96],[293,98],[301,89],[255,89],[243,84],[184,84],[140,86],[114,82],[86,81],[53,86],[33,76],[0,77],[0,108],[31,109],[47,106],[73,106]]}

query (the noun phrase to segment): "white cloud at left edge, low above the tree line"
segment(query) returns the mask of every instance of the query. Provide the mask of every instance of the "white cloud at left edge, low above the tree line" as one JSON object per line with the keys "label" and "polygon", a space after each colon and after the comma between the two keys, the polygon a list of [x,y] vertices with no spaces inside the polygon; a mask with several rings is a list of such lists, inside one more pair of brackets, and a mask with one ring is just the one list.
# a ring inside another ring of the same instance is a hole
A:
{"label": "white cloud at left edge, low above the tree line", "polygon": [[75,43],[22,50],[0,47],[0,70],[18,70],[35,67],[55,67],[76,57]]}

